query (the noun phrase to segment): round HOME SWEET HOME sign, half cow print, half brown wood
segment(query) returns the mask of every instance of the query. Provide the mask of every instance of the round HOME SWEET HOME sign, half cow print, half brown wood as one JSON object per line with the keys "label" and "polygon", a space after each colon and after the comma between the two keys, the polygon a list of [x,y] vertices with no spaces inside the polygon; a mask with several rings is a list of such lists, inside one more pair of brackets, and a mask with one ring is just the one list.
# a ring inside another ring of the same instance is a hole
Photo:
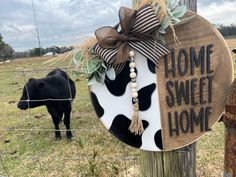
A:
{"label": "round HOME SWEET HOME sign, half cow print, half brown wood", "polygon": [[170,53],[159,68],[135,51],[139,115],[144,132],[129,131],[133,114],[129,61],[115,80],[90,86],[102,124],[124,143],[147,151],[170,151],[197,141],[224,112],[233,78],[230,51],[208,21],[188,12],[190,20],[165,35]]}

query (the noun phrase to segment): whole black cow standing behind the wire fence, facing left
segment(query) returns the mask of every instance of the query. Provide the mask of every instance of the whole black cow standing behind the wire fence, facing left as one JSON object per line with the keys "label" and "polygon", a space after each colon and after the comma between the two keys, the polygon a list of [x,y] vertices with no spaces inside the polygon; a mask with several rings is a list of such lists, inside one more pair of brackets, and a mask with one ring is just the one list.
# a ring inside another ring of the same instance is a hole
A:
{"label": "whole black cow standing behind the wire fence, facing left", "polygon": [[64,71],[55,69],[45,78],[29,79],[24,86],[23,94],[17,107],[21,110],[26,110],[27,108],[45,105],[52,116],[57,140],[61,139],[59,123],[64,114],[63,121],[67,129],[66,137],[70,140],[73,137],[70,131],[71,102],[75,98],[75,94],[74,82]]}

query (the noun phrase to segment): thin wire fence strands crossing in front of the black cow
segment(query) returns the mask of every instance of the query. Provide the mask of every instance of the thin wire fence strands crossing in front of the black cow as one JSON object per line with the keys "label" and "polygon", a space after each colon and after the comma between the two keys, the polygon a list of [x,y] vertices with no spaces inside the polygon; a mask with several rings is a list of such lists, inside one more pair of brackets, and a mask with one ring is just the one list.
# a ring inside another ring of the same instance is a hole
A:
{"label": "thin wire fence strands crossing in front of the black cow", "polygon": [[[27,80],[26,80],[26,73],[31,73],[31,72],[46,72],[46,71],[51,71],[53,70],[54,68],[47,68],[47,69],[23,69],[23,70],[20,70],[20,71],[16,71],[16,70],[13,70],[13,71],[0,71],[0,74],[1,73],[21,73],[22,77],[23,77],[23,83],[25,85],[25,88],[26,88],[26,93],[27,93],[27,100],[20,100],[20,101],[16,101],[16,100],[0,100],[0,103],[3,103],[3,102],[6,102],[6,103],[16,103],[16,102],[27,102],[28,104],[28,107],[30,107],[30,102],[47,102],[47,101],[52,101],[52,102],[60,102],[60,101],[70,101],[70,104],[71,104],[71,118],[73,117],[73,101],[75,100],[78,100],[78,101],[81,101],[81,100],[89,100],[88,97],[76,97],[73,99],[73,96],[72,96],[72,92],[71,92],[71,85],[70,85],[70,80],[69,80],[69,70],[70,69],[73,69],[72,67],[63,67],[63,68],[60,68],[60,69],[63,69],[66,73],[67,73],[67,84],[68,84],[68,89],[69,89],[69,98],[66,98],[66,99],[61,99],[61,98],[47,98],[47,99],[37,99],[37,100],[34,100],[34,99],[31,99],[30,98],[30,93],[29,93],[29,89],[27,87]],[[28,109],[28,115],[29,115],[29,122],[31,125],[33,125],[33,115],[32,115],[32,112],[31,112],[31,109]],[[98,127],[86,127],[86,128],[71,128],[70,129],[72,132],[75,132],[75,131],[80,131],[80,132],[107,132],[104,128],[98,128]],[[16,127],[13,127],[13,128],[7,128],[7,127],[0,127],[0,131],[15,131],[15,132],[20,132],[20,131],[26,131],[26,132],[31,132],[32,136],[35,136],[37,132],[55,132],[55,131],[61,131],[61,132],[66,132],[67,130],[66,129],[61,129],[61,130],[55,130],[55,129],[47,129],[47,128],[16,128]],[[76,140],[76,155],[73,156],[73,157],[69,157],[69,156],[54,156],[53,159],[57,159],[57,160],[68,160],[68,161],[76,161],[77,162],[77,165],[78,165],[78,170],[76,171],[76,174],[78,177],[81,176],[81,174],[83,174],[83,170],[80,168],[80,165],[81,165],[81,161],[83,160],[89,160],[91,157],[88,157],[88,156],[84,156],[84,155],[81,155],[80,154],[80,145],[79,145],[79,141]],[[37,144],[35,141],[33,141],[33,146],[34,147],[37,147]],[[94,148],[94,151],[96,151],[96,147],[95,145],[93,144],[93,148]],[[121,155],[118,156],[96,156],[96,161],[109,161],[109,162],[123,162],[123,165],[124,165],[124,176],[125,177],[128,177],[128,162],[130,162],[130,164],[136,168],[137,167],[137,161],[140,160],[140,157],[135,157],[135,156],[127,156],[127,152],[125,151],[125,145],[122,143],[121,144]],[[46,173],[44,172],[44,167],[41,163],[41,160],[40,159],[45,159],[45,158],[48,158],[50,156],[40,156],[39,154],[35,154],[35,155],[18,155],[18,154],[11,154],[11,153],[5,153],[5,152],[0,152],[0,162],[1,162],[1,165],[3,167],[3,170],[5,172],[5,174],[7,174],[7,176],[9,177],[10,176],[10,171],[6,165],[6,163],[4,162],[4,159],[3,158],[26,158],[26,159],[34,159],[36,160],[36,164],[39,168],[39,173],[42,177],[45,177]],[[46,168],[46,167],[45,167]],[[64,172],[63,172],[64,173]],[[133,174],[133,176],[135,176],[135,174]]]}

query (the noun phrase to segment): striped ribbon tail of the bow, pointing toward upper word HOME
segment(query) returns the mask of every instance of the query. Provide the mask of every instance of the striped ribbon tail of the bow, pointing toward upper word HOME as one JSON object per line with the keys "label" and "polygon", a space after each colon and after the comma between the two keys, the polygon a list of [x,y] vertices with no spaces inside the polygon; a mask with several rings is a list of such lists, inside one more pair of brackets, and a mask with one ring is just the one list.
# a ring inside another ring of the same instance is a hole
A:
{"label": "striped ribbon tail of the bow, pointing toward upper word HOME", "polygon": [[170,53],[170,49],[167,46],[152,39],[130,42],[129,45],[155,64],[157,68],[159,67],[159,60]]}

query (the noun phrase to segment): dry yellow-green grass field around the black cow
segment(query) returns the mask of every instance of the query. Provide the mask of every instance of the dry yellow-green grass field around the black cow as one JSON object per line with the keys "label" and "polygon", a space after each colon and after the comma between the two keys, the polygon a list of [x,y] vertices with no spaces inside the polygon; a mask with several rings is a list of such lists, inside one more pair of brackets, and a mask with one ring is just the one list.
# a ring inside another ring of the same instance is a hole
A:
{"label": "dry yellow-green grass field around the black cow", "polygon": [[[236,39],[227,42],[230,48],[236,48]],[[44,63],[47,60],[31,58],[0,65],[0,176],[139,176],[140,151],[104,130],[91,107],[85,81],[76,81],[71,142],[65,132],[61,141],[54,140],[54,126],[45,107],[30,111],[16,108],[25,81],[45,76],[50,71],[46,68],[68,65],[62,61],[50,66]],[[197,143],[198,176],[222,176],[223,158],[224,125],[217,123]]]}

